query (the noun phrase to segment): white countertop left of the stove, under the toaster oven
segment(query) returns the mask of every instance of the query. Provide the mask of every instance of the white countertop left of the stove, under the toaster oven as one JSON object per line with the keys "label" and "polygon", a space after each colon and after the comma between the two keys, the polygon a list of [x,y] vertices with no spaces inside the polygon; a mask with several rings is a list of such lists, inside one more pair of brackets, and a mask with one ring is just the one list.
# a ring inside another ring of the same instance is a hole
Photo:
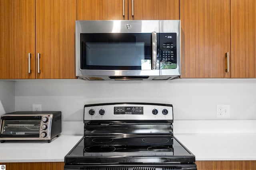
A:
{"label": "white countertop left of the stove, under the toaster oven", "polygon": [[66,154],[82,136],[61,135],[47,141],[0,143],[0,162],[64,162]]}

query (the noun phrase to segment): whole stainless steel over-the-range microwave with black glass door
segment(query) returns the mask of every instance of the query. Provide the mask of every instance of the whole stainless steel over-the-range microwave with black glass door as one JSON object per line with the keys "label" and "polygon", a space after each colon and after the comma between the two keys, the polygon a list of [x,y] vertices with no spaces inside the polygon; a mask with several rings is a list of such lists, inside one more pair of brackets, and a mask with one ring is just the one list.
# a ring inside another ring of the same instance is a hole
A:
{"label": "whole stainless steel over-the-range microwave with black glass door", "polygon": [[180,63],[180,20],[76,21],[78,78],[168,80]]}

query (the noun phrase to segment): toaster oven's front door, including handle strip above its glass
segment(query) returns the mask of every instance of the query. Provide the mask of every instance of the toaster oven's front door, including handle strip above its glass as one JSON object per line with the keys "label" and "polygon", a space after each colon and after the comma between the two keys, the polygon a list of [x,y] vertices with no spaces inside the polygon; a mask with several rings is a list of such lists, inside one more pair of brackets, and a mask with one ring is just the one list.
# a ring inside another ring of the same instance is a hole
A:
{"label": "toaster oven's front door, including handle strip above its glass", "polygon": [[1,138],[38,138],[41,116],[4,116],[1,120]]}

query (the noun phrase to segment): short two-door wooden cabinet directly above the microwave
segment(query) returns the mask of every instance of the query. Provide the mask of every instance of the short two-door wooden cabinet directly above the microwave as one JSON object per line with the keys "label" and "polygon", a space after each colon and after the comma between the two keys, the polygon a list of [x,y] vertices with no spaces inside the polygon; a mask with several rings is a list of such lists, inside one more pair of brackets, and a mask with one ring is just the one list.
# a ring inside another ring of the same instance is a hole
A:
{"label": "short two-door wooden cabinet directly above the microwave", "polygon": [[178,20],[179,0],[77,0],[78,20]]}

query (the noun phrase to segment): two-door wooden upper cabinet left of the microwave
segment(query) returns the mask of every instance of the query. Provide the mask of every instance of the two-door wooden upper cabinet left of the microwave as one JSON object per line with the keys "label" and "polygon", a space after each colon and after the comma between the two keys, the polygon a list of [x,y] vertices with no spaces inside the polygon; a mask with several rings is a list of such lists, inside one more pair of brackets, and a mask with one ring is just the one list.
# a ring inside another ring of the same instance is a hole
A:
{"label": "two-door wooden upper cabinet left of the microwave", "polygon": [[1,0],[0,79],[76,78],[75,20],[76,0]]}

